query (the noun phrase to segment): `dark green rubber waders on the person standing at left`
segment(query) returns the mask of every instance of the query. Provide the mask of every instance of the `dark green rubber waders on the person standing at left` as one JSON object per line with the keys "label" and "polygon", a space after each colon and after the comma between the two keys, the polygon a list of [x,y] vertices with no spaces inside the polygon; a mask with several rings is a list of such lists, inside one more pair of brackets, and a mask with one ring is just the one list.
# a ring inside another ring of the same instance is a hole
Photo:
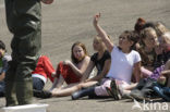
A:
{"label": "dark green rubber waders on the person standing at left", "polygon": [[5,0],[7,24],[13,34],[12,61],[5,76],[7,107],[32,103],[32,71],[41,48],[39,0]]}

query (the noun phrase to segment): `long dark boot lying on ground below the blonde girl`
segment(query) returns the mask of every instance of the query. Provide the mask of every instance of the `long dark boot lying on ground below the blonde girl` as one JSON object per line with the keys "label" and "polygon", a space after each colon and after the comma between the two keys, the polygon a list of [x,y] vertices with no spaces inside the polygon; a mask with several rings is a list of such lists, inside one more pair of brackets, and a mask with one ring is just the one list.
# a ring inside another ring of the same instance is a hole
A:
{"label": "long dark boot lying on ground below the blonde girl", "polygon": [[90,88],[86,88],[86,89],[75,91],[74,94],[72,94],[72,100],[77,100],[78,98],[82,98],[85,96],[96,96],[95,87],[90,87]]}

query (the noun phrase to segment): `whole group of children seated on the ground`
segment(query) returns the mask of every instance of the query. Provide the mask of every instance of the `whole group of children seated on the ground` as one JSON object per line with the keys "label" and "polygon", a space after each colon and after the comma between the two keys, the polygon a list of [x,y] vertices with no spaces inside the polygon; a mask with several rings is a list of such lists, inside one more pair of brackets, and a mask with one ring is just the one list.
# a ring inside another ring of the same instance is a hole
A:
{"label": "whole group of children seated on the ground", "polygon": [[[100,13],[95,15],[93,21],[97,35],[93,40],[96,52],[92,57],[80,41],[71,48],[71,61],[59,62],[56,70],[48,57],[39,57],[32,73],[34,96],[170,101],[170,30],[161,22],[139,17],[134,30],[120,34],[116,46],[99,25],[100,16]],[[0,40],[0,97],[5,96],[4,77],[10,60]],[[97,72],[93,75],[95,67]],[[46,90],[48,78],[52,86]]]}

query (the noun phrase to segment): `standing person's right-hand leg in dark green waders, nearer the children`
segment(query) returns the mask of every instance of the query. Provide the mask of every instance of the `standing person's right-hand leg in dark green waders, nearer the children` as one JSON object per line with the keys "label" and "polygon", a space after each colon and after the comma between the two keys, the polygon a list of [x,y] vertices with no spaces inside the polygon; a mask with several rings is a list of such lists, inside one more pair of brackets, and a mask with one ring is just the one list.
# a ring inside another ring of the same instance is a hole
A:
{"label": "standing person's right-hand leg in dark green waders, nearer the children", "polygon": [[16,98],[19,104],[27,104],[33,98],[32,71],[36,67],[41,47],[41,5],[38,0],[15,0],[15,2],[19,21],[14,38],[20,39],[16,48],[19,50],[15,73]]}

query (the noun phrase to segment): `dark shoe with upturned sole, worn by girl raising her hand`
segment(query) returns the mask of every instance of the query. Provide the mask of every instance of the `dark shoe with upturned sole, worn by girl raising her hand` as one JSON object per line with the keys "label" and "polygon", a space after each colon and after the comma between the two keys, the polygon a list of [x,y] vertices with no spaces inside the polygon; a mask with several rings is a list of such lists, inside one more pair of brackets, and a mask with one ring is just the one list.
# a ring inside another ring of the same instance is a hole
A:
{"label": "dark shoe with upturned sole, worn by girl raising her hand", "polygon": [[116,80],[111,80],[110,88],[106,87],[106,89],[107,89],[107,92],[109,94],[109,96],[114,98],[114,100],[120,100],[122,98],[119,87],[116,84]]}

